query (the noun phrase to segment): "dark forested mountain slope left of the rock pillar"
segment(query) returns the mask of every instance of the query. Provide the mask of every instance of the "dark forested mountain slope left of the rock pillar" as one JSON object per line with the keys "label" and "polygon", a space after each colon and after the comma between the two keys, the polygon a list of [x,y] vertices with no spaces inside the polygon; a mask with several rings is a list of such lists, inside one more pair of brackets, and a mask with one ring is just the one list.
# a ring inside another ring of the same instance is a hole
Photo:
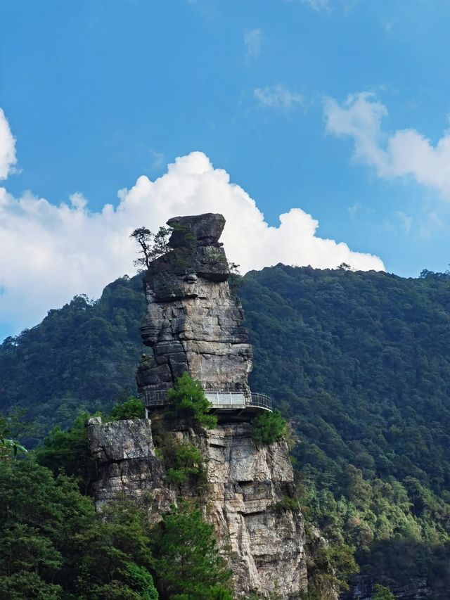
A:
{"label": "dark forested mountain slope left of the rock pillar", "polygon": [[144,351],[139,326],[146,311],[142,276],[124,276],[92,302],[79,295],[50,310],[37,327],[0,345],[0,412],[27,409],[34,431],[18,438],[27,448],[82,411],[108,414],[136,394],[136,363]]}

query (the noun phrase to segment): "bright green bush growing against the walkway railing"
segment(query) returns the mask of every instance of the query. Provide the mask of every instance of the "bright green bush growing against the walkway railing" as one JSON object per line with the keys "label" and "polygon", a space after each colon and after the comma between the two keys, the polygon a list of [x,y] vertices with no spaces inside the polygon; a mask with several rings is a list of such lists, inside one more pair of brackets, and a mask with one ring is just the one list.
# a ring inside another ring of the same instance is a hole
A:
{"label": "bright green bush growing against the walkway railing", "polygon": [[174,416],[198,421],[208,429],[217,425],[217,418],[209,414],[211,404],[203,392],[200,381],[184,373],[168,390],[167,399],[174,404]]}

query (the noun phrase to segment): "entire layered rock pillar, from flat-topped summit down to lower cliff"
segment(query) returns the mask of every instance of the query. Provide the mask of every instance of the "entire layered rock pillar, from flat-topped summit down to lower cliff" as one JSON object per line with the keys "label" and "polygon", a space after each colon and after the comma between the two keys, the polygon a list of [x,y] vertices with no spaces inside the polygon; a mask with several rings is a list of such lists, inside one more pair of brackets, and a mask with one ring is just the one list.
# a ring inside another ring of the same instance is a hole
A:
{"label": "entire layered rock pillar, from flat-topped summit down to lower cliff", "polygon": [[[143,357],[136,378],[150,410],[157,404],[153,400],[160,401],[158,392],[171,388],[184,371],[206,391],[240,392],[250,401],[252,348],[243,310],[227,281],[229,265],[219,243],[224,223],[224,217],[211,214],[171,219],[170,250],[146,273],[141,333],[152,354]],[[298,598],[307,589],[307,560],[302,514],[285,501],[294,495],[288,447],[283,441],[255,446],[251,416],[240,409],[218,410],[214,430],[169,426],[170,435],[202,452],[207,485],[201,490],[167,483],[149,419],[106,424],[91,419],[89,445],[101,473],[97,502],[118,493],[134,499],[146,495],[151,516],[158,519],[180,496],[195,497],[214,525],[239,596]]]}

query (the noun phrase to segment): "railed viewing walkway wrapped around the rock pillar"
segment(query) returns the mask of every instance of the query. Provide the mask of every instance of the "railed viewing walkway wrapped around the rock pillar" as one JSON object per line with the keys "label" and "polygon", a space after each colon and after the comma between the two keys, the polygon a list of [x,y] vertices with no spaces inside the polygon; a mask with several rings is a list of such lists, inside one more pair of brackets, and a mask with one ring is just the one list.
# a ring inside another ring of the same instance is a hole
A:
{"label": "railed viewing walkway wrapped around the rock pillar", "polygon": [[[169,406],[167,392],[144,391],[139,392],[139,400],[146,407],[146,416],[149,410]],[[212,405],[212,412],[240,412],[255,413],[260,410],[272,411],[272,400],[265,394],[252,393],[246,397],[243,392],[210,392],[205,391],[205,396]]]}

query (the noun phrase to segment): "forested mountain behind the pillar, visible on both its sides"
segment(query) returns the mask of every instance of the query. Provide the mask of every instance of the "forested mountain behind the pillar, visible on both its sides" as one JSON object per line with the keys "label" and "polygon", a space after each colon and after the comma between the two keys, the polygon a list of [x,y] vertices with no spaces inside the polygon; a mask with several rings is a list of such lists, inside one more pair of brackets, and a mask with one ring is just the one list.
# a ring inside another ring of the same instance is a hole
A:
{"label": "forested mountain behind the pillar, visible on both its sides", "polygon": [[[293,424],[300,502],[361,573],[392,589],[450,582],[450,279],[278,265],[240,297],[250,384]],[[37,423],[25,442],[134,392],[141,277],[78,296],[0,348],[0,411]]]}

